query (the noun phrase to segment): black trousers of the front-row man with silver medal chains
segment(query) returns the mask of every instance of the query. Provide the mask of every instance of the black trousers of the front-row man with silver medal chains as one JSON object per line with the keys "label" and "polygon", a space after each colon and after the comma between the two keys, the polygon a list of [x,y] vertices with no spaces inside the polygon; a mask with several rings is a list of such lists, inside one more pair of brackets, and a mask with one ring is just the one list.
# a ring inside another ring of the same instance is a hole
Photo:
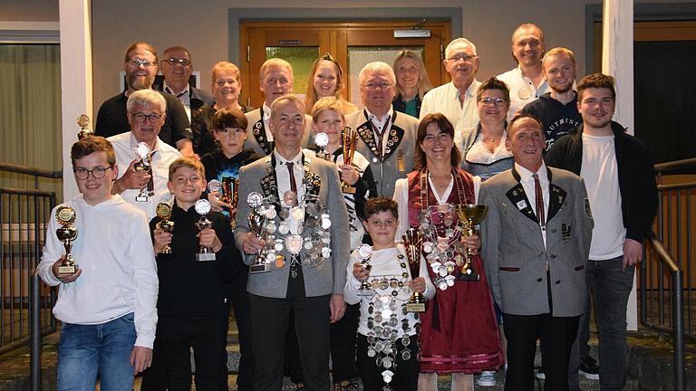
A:
{"label": "black trousers of the front-row man with silver medal chains", "polygon": [[295,314],[305,389],[329,388],[329,300],[331,295],[306,297],[301,268],[290,278],[285,299],[249,295],[255,358],[255,391],[277,391],[283,384],[285,333]]}

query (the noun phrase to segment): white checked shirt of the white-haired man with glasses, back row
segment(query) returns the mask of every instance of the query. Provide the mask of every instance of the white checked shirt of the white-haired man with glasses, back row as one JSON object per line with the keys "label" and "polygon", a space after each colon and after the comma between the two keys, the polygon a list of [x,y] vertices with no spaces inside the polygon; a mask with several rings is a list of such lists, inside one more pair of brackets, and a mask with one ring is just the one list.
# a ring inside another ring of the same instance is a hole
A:
{"label": "white checked shirt of the white-haired man with glasses, back row", "polygon": [[464,93],[464,101],[459,100],[459,90],[454,83],[441,85],[425,94],[420,104],[420,119],[433,112],[440,112],[454,126],[455,137],[465,129],[478,125],[478,108],[476,107],[476,91],[480,81],[474,80]]}

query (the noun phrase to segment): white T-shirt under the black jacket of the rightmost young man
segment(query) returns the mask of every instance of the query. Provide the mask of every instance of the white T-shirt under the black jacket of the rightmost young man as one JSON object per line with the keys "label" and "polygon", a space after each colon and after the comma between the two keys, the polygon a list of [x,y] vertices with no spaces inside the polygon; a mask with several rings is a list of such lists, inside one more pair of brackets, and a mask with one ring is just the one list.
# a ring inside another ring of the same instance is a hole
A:
{"label": "white T-shirt under the black jacket of the rightmost young man", "polygon": [[594,219],[589,258],[593,261],[616,258],[623,254],[626,229],[623,227],[614,135],[596,137],[583,133],[580,176],[585,179],[592,215],[601,216]]}

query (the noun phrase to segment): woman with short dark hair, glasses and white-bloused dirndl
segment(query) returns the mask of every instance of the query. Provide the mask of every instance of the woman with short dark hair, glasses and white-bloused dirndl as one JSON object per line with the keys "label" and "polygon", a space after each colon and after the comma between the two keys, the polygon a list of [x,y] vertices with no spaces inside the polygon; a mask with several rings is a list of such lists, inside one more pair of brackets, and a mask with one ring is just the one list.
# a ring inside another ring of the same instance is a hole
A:
{"label": "woman with short dark hair, glasses and white-bloused dirndl", "polygon": [[515,163],[505,147],[510,91],[503,81],[492,77],[478,87],[476,100],[478,125],[464,129],[454,144],[462,150],[461,167],[485,181]]}

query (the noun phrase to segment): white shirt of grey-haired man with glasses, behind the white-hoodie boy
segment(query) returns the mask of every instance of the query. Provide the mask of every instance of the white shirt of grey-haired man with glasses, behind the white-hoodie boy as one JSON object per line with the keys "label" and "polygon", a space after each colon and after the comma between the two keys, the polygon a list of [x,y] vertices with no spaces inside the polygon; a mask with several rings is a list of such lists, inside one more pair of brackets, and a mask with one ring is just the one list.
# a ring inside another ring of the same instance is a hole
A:
{"label": "white shirt of grey-haired man with glasses, behind the white-hoodie boy", "polygon": [[[131,132],[121,133],[107,139],[111,141],[113,150],[116,152],[116,164],[119,165],[119,178],[121,178],[131,165],[131,161],[137,156],[135,147],[138,145],[138,140]],[[160,202],[171,204],[172,201],[174,201],[174,196],[169,193],[169,188],[167,188],[167,182],[169,181],[169,165],[174,160],[181,157],[181,154],[176,148],[162,142],[159,137],[155,142],[154,150],[156,152],[152,155],[152,180],[155,195],[148,197],[148,201],[146,202],[139,202],[135,200],[135,197],[140,195],[140,189],[127,189],[121,193],[121,196],[127,203],[145,212],[149,220],[157,215],[155,213],[155,207],[160,204]]]}

